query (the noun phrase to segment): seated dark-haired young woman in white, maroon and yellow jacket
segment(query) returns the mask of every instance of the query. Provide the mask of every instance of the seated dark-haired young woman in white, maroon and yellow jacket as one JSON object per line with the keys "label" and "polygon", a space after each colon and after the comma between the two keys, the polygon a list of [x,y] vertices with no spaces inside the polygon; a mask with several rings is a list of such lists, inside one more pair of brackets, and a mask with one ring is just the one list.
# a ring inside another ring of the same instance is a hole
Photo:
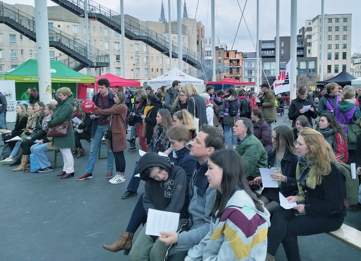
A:
{"label": "seated dark-haired young woman in white, maroon and yellow jacket", "polygon": [[185,261],[264,261],[270,214],[249,188],[240,155],[231,149],[209,156],[209,187],[217,190],[208,234]]}

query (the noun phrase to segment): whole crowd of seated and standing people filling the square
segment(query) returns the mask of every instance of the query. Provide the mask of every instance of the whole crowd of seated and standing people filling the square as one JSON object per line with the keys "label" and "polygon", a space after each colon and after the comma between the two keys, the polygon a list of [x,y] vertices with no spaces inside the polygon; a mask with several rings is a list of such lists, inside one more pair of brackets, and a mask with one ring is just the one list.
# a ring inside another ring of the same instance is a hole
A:
{"label": "whole crowd of seated and standing people filling the square", "polygon": [[[361,187],[360,193],[352,191],[358,203],[347,208],[344,204],[350,157],[361,175],[361,134],[356,142],[348,142],[352,135],[348,126],[360,127],[361,122],[353,89],[338,99],[334,91],[338,85],[328,84],[316,108],[306,88],[300,87],[288,114],[292,128],[272,129],[277,111],[271,106],[275,96],[268,84],[261,86],[264,99],[260,103],[255,101],[255,92],[247,98],[243,90],[215,93],[208,86],[198,94],[193,84],[181,89],[179,81],[169,89],[163,86],[159,97],[151,88],[139,89],[134,95],[129,89],[109,92],[110,82],[105,78],[98,86],[92,101],[81,104],[69,88],[62,87],[56,91],[57,104],[37,101],[27,111],[17,105],[16,125],[5,140],[22,139],[8,142],[12,152],[1,163],[15,163],[19,166],[13,171],[24,171],[30,159],[31,169],[38,166],[34,171],[52,171],[45,152],[55,149],[64,158],[57,175],[73,177],[73,156],[85,155],[81,140],[91,140],[88,163],[77,180],[89,179],[104,136],[108,148],[105,177],[118,184],[126,181],[126,141],[132,151],[138,138],[146,153],[132,166],[121,198],[137,195],[140,180],[145,182],[144,193],[127,227],[119,228],[120,238],[103,245],[109,251],[124,250],[134,261],[264,261],[274,260],[282,243],[288,260],[300,260],[297,236],[335,231],[343,224],[346,210],[361,210]],[[129,105],[133,96],[134,107]],[[305,105],[311,107],[305,110]],[[127,140],[128,123],[131,138]],[[68,131],[60,134],[64,126]],[[232,147],[227,149],[230,130]],[[278,187],[264,188],[257,197],[255,191],[262,185],[260,168],[277,169],[271,179]],[[279,193],[296,205],[284,209]],[[177,232],[146,235],[149,209],[179,213]]]}

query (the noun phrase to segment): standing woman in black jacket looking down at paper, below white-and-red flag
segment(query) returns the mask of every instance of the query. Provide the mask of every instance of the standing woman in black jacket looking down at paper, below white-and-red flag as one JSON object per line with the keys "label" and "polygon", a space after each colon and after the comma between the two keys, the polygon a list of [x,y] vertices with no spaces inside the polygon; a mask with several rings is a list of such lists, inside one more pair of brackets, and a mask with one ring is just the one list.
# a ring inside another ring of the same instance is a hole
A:
{"label": "standing woman in black jacket looking down at paper, below white-and-red flag", "polygon": [[296,125],[296,119],[300,115],[305,116],[308,119],[311,127],[312,119],[317,118],[317,110],[311,100],[307,100],[307,89],[300,87],[298,89],[298,97],[291,102],[290,110],[288,111],[288,118],[292,119],[292,127]]}

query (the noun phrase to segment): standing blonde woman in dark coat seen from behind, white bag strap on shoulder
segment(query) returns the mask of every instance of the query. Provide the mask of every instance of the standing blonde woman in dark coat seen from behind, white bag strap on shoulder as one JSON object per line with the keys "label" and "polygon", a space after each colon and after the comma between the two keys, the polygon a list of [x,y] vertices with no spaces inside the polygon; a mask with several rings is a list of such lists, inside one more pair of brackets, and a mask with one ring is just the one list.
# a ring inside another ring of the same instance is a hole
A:
{"label": "standing blonde woman in dark coat seen from behind, white bag strap on shoulder", "polygon": [[[199,119],[198,127],[207,124],[207,114],[204,99],[198,95],[198,90],[193,83],[187,83],[183,88],[188,96],[187,110],[193,117]],[[194,126],[195,127],[195,126]]]}

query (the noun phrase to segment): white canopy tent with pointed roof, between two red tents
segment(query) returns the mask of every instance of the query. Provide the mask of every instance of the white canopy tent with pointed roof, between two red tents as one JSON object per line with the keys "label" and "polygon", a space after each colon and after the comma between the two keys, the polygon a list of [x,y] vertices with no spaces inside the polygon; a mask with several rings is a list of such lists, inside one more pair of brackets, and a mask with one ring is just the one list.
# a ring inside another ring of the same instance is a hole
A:
{"label": "white canopy tent with pointed roof, between two red tents", "polygon": [[172,86],[173,81],[180,81],[181,86],[186,85],[187,83],[193,83],[197,88],[198,93],[204,91],[204,81],[192,77],[188,74],[183,73],[183,71],[179,70],[177,67],[173,67],[168,73],[161,75],[155,79],[147,81],[147,85],[153,88],[153,91],[157,91],[161,86]]}

